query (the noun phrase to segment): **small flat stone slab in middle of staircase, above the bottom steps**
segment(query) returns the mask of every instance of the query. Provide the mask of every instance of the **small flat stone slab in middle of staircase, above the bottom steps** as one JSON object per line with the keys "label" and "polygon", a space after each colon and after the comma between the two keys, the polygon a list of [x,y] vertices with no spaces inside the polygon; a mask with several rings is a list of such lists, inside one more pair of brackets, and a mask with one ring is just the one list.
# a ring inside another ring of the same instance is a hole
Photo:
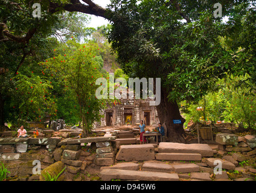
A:
{"label": "small flat stone slab in middle of staircase, above the bottom steps", "polygon": [[153,172],[172,172],[173,166],[167,163],[151,163],[146,162],[142,165],[142,171],[153,171]]}

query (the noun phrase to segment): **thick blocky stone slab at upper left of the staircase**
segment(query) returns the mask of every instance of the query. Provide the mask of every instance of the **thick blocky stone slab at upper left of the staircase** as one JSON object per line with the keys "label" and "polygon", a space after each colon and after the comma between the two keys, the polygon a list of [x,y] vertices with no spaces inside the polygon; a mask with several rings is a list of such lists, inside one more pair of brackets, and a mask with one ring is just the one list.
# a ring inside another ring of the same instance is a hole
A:
{"label": "thick blocky stone slab at upper left of the staircase", "polygon": [[153,160],[155,159],[155,149],[150,144],[121,145],[115,159],[125,160],[126,162],[132,160]]}

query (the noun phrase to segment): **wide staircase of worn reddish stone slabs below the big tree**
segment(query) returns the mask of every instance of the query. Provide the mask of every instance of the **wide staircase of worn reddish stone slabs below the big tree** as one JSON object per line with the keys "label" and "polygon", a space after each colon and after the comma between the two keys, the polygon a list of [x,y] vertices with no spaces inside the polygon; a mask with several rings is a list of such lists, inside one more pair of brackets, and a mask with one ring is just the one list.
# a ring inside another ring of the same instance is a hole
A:
{"label": "wide staircase of worn reddish stone slabs below the big tree", "polygon": [[161,142],[158,153],[152,144],[121,145],[116,159],[127,162],[101,167],[101,180],[210,181],[208,171],[213,169],[203,167],[207,165],[200,161],[202,157],[212,156],[213,150],[207,144]]}

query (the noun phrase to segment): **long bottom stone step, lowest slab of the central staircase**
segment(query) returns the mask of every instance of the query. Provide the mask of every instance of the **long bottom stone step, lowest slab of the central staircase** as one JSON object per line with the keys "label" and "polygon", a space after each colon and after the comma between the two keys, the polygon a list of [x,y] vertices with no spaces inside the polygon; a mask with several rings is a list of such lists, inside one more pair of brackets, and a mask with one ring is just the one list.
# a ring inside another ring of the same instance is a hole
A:
{"label": "long bottom stone step, lowest slab of the central staircase", "polygon": [[112,179],[120,180],[142,180],[142,181],[179,181],[176,173],[134,171],[124,169],[103,169],[100,172],[101,180],[110,181]]}

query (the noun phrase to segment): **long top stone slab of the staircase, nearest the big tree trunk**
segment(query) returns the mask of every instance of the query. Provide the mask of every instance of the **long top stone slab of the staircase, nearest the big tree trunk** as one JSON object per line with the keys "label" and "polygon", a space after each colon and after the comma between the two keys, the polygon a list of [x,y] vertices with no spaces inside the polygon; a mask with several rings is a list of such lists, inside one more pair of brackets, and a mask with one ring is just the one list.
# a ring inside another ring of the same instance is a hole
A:
{"label": "long top stone slab of the staircase, nearest the big tree trunk", "polygon": [[208,144],[180,144],[161,142],[158,153],[199,153],[202,157],[213,156],[213,150]]}

